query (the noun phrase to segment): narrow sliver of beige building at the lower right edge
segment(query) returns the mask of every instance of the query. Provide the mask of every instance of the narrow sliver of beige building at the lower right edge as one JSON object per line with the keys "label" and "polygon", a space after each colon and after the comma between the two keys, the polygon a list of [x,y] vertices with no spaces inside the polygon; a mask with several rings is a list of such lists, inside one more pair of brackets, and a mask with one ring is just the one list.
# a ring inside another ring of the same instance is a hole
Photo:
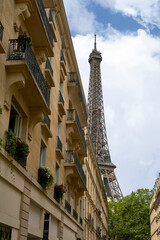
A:
{"label": "narrow sliver of beige building at the lower right edge", "polygon": [[156,179],[150,202],[151,240],[160,239],[160,174]]}

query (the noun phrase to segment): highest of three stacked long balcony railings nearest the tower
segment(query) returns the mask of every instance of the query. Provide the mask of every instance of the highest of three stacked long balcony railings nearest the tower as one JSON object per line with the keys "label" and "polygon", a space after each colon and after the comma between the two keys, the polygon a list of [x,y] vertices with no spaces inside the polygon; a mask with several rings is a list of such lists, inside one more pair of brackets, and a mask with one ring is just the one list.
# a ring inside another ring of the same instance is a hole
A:
{"label": "highest of three stacked long balcony railings nearest the tower", "polygon": [[78,78],[78,75],[77,75],[76,72],[69,72],[68,82],[76,82],[77,83],[77,86],[78,86],[78,89],[79,89],[79,93],[80,93],[80,97],[81,97],[81,101],[82,101],[82,105],[83,105],[83,109],[84,109],[84,113],[85,113],[85,116],[86,116],[86,119],[87,119],[87,117],[88,117],[87,116],[87,110],[86,110],[86,106],[85,106],[85,103],[84,103],[84,98],[83,98],[83,94],[82,94],[79,78]]}

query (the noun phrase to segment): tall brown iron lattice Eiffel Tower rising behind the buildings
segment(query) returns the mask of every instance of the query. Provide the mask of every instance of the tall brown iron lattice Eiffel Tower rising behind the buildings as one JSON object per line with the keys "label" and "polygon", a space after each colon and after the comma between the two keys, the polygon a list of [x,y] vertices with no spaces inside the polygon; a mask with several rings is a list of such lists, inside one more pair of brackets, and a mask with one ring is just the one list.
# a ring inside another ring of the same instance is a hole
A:
{"label": "tall brown iron lattice Eiffel Tower rising behind the buildings", "polygon": [[116,166],[111,162],[109,153],[100,69],[102,56],[96,48],[96,35],[94,49],[92,50],[88,61],[90,63],[88,91],[89,132],[94,146],[99,170],[103,176],[107,198],[114,202],[119,200],[123,195],[114,172]]}

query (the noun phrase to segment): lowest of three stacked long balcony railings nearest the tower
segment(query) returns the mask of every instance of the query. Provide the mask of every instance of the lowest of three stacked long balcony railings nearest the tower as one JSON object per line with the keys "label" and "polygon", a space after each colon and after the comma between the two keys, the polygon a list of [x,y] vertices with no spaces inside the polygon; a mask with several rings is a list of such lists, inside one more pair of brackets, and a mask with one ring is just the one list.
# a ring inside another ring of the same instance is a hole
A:
{"label": "lowest of three stacked long balcony railings nearest the tower", "polygon": [[65,153],[65,163],[74,163],[77,167],[77,170],[82,178],[83,183],[86,186],[86,175],[82,169],[80,161],[78,159],[77,153],[72,150],[67,150]]}

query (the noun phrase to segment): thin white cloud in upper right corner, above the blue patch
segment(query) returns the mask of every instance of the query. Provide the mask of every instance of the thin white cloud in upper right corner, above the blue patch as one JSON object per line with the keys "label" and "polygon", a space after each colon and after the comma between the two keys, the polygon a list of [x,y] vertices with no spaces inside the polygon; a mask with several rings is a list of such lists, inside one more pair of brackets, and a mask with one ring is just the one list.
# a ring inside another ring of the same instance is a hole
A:
{"label": "thin white cloud in upper right corner, above the blue patch", "polygon": [[160,1],[159,0],[94,0],[102,7],[120,11],[125,15],[132,16],[139,23],[157,25],[160,28]]}

